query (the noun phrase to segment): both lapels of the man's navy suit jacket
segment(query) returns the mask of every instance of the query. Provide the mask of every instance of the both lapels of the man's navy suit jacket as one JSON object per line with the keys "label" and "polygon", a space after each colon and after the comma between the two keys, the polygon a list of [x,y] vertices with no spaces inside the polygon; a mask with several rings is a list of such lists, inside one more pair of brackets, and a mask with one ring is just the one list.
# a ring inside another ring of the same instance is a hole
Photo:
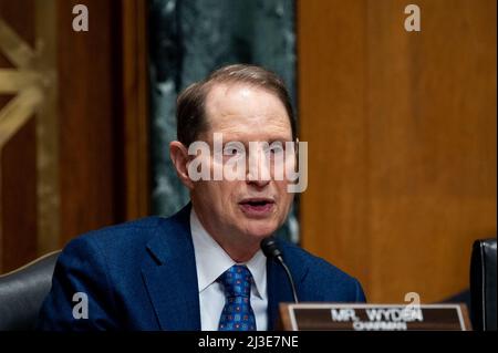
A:
{"label": "both lapels of the man's navy suit jacket", "polygon": [[[191,205],[165,220],[160,232],[147,243],[149,256],[142,263],[142,274],[162,330],[200,330],[199,288],[190,233]],[[283,258],[295,282],[300,284],[308,273],[303,263]],[[292,290],[282,267],[267,261],[268,330],[274,330],[279,303],[293,302]]]}

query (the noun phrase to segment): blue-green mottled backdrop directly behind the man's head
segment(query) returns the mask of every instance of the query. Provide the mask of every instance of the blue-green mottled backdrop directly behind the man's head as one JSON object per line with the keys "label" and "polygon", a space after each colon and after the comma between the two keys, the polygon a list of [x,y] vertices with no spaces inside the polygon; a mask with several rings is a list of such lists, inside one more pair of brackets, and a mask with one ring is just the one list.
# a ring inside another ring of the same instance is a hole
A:
{"label": "blue-green mottled backdrop directly behind the man's head", "polygon": [[[295,103],[293,0],[149,0],[152,209],[188,201],[169,160],[177,94],[212,70],[253,63],[277,72]],[[295,107],[295,104],[294,104]],[[279,236],[298,241],[297,203]]]}

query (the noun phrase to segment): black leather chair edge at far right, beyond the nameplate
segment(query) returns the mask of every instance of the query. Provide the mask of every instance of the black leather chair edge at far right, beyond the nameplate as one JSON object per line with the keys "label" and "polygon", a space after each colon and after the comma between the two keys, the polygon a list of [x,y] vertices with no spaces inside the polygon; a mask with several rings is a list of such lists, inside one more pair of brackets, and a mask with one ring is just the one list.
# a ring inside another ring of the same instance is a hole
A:
{"label": "black leather chair edge at far right, beyond the nameplate", "polygon": [[474,330],[496,331],[496,238],[476,240],[470,260]]}

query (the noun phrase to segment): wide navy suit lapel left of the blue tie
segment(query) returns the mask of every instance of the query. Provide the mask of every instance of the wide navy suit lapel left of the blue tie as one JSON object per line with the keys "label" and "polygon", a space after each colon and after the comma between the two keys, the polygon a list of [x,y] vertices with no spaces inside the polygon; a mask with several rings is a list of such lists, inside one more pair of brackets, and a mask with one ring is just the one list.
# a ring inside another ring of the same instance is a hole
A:
{"label": "wide navy suit lapel left of the blue tie", "polygon": [[167,219],[147,243],[142,274],[162,330],[200,330],[199,294],[189,225],[190,205]]}

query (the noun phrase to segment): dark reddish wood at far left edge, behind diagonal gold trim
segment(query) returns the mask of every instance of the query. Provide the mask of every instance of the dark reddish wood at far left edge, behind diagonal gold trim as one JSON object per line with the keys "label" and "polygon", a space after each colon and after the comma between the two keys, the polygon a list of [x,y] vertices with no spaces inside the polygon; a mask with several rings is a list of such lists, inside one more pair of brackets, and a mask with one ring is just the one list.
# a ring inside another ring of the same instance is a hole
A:
{"label": "dark reddish wood at far left edge, behind diagonal gold trim", "polygon": [[[33,1],[0,1],[0,17],[9,20],[23,44],[34,48]],[[18,70],[18,63],[8,56],[0,51],[0,68]],[[15,111],[15,107],[9,108],[9,103],[14,102],[15,96],[18,92],[0,93],[2,135],[4,108],[11,114]],[[15,120],[19,121],[19,116]],[[3,144],[0,143],[0,272],[21,264],[22,260],[19,259],[30,259],[37,253],[37,124],[31,118],[15,125],[20,125],[15,134]]]}

